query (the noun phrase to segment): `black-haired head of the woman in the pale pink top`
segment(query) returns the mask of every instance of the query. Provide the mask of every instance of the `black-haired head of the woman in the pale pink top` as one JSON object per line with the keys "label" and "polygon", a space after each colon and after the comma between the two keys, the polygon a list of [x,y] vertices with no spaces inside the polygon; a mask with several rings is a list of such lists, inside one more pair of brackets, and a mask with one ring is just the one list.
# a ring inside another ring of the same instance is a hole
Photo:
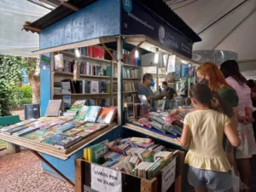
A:
{"label": "black-haired head of the woman in the pale pink top", "polygon": [[242,86],[247,83],[247,79],[241,75],[238,63],[235,60],[224,61],[220,65],[220,71],[223,73],[225,79],[232,77]]}

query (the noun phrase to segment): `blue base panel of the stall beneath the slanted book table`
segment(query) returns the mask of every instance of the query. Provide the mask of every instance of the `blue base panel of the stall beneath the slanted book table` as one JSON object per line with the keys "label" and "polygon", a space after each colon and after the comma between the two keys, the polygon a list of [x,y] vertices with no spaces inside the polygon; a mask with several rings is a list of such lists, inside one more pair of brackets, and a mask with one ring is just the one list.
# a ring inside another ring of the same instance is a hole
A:
{"label": "blue base panel of the stall beneath the slanted book table", "polygon": [[[120,127],[117,127],[113,131],[109,131],[106,135],[96,139],[95,142],[88,144],[94,145],[96,143],[101,143],[102,141],[108,139],[108,141],[113,141],[120,137]],[[86,146],[86,147],[88,147]],[[84,148],[86,148],[84,147]],[[55,166],[56,169],[58,169],[63,175],[65,175],[67,178],[69,178],[71,181],[75,181],[75,159],[82,157],[84,155],[84,149],[80,149],[78,152],[73,154],[68,160],[60,160],[58,158],[55,158],[53,156],[49,156],[48,154],[42,154],[42,156],[48,160],[52,166]],[[49,166],[45,165],[44,163],[41,164],[44,170],[48,172],[54,172]]]}

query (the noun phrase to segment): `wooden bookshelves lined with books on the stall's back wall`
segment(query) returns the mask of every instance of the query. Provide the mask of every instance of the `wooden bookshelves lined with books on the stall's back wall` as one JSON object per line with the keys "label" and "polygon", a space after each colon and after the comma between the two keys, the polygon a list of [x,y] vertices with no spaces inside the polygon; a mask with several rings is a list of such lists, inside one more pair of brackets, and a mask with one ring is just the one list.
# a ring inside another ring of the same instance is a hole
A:
{"label": "wooden bookshelves lined with books on the stall's back wall", "polygon": [[[80,55],[80,57],[76,57],[74,53],[68,52],[68,51],[59,51],[55,52],[53,54],[53,61],[55,63],[55,55],[62,54],[63,55],[63,61],[64,63],[66,61],[68,62],[74,62],[74,65],[78,65],[78,72],[77,72],[77,80],[86,80],[86,81],[98,81],[98,82],[105,82],[110,85],[110,89],[108,92],[103,92],[103,93],[55,93],[55,82],[61,82],[64,79],[70,79],[73,80],[73,72],[67,72],[65,69],[61,70],[55,70],[55,65],[51,67],[52,71],[52,83],[51,83],[51,96],[52,99],[62,99],[63,96],[71,96],[71,103],[77,101],[77,100],[89,100],[89,99],[106,99],[106,102],[108,106],[117,106],[117,89],[114,91],[113,90],[113,84],[116,84],[117,87],[117,61],[111,61],[111,60],[106,60],[106,59],[99,59],[95,57],[90,57],[86,55]],[[80,73],[80,67],[81,63],[85,62],[86,64],[90,64],[93,66],[100,66],[104,68],[104,75],[90,75],[90,74],[81,74]],[[107,72],[107,66],[110,67],[111,74],[109,76],[105,75]],[[113,72],[113,67],[115,67],[115,70]],[[131,71],[137,71],[137,75],[131,76]],[[125,78],[123,78],[123,97],[124,97],[124,102],[126,101],[127,96],[134,96],[137,94],[137,88],[138,88],[138,83],[142,79],[142,67],[140,66],[134,66],[131,64],[125,64],[123,63],[123,71],[129,71],[129,75]],[[114,73],[114,74],[113,74]],[[125,89],[125,84],[129,84],[129,89]],[[133,84],[133,85],[132,85]]]}

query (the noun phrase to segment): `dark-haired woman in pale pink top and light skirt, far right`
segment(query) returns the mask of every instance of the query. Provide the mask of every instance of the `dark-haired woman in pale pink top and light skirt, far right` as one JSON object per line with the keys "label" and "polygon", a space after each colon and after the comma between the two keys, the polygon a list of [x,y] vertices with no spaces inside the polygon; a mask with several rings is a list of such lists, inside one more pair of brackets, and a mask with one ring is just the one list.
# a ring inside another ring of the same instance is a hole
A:
{"label": "dark-haired woman in pale pink top and light skirt, far right", "polygon": [[[251,90],[247,86],[245,79],[238,67],[238,63],[234,60],[224,61],[220,66],[221,72],[227,83],[236,90],[239,96],[237,106],[237,117],[239,137],[241,146],[236,150],[237,167],[241,175],[241,182],[249,186],[251,166],[250,158],[256,154],[256,143],[253,137],[253,104],[251,100]],[[247,190],[246,190],[247,191]]]}

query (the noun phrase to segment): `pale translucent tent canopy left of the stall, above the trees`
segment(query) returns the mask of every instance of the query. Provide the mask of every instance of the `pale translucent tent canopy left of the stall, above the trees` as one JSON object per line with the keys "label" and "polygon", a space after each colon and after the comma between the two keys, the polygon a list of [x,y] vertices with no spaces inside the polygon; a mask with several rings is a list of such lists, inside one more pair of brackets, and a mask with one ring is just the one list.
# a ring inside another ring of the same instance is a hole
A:
{"label": "pale translucent tent canopy left of the stall, above the trees", "polygon": [[39,35],[21,29],[50,10],[27,0],[0,0],[0,11],[0,54],[32,56],[39,48]]}

